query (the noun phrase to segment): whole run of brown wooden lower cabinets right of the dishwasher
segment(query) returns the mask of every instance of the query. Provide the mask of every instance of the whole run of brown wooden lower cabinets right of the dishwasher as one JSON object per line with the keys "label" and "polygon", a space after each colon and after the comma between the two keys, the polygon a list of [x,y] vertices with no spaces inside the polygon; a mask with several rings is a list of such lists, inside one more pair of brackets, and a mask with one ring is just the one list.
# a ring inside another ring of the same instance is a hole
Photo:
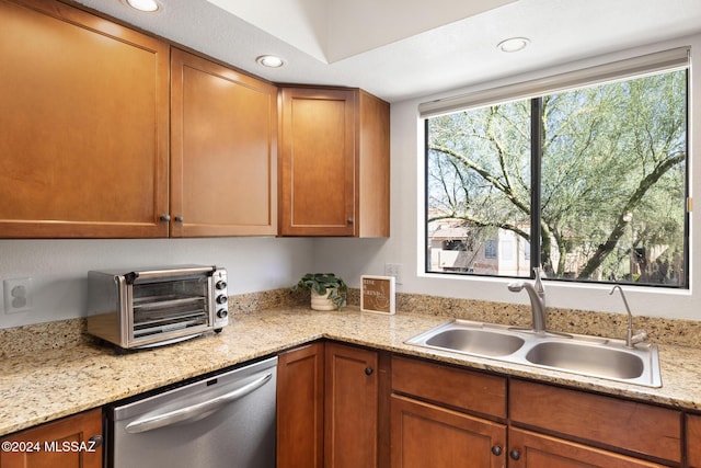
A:
{"label": "whole run of brown wooden lower cabinets right of the dishwasher", "polygon": [[278,373],[280,468],[701,468],[673,408],[334,342]]}

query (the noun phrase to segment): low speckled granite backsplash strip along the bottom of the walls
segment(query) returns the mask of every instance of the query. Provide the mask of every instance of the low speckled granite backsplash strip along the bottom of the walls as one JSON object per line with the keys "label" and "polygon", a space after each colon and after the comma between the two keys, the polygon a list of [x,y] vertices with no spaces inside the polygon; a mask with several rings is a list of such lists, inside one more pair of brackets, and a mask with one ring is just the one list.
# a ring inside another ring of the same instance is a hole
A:
{"label": "low speckled granite backsplash strip along the bottom of the walls", "polygon": [[[288,288],[231,296],[231,322],[240,313],[252,313],[284,307],[304,307],[309,292],[292,293]],[[360,290],[348,289],[348,307],[357,309]],[[420,294],[397,294],[398,313],[421,313],[516,327],[530,326],[530,307],[507,303],[455,299]],[[624,313],[591,312],[576,309],[548,308],[548,329],[552,331],[620,338],[625,335]],[[643,329],[648,340],[658,344],[701,347],[701,321],[633,317],[633,330]],[[70,319],[0,329],[0,358],[71,347],[84,343],[85,319]],[[417,332],[421,330],[417,330]]]}

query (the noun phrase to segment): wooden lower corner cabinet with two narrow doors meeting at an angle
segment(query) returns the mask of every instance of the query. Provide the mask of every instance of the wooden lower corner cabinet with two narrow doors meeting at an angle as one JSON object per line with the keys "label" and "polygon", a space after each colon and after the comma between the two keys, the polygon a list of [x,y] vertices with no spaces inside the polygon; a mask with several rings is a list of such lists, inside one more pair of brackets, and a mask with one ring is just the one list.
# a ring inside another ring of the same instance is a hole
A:
{"label": "wooden lower corner cabinet with two narrow doors meeting at an angle", "polygon": [[[383,354],[313,343],[279,355],[278,468],[389,465]],[[388,412],[389,413],[389,412]],[[384,441],[383,437],[387,437]],[[384,442],[383,442],[384,441]]]}

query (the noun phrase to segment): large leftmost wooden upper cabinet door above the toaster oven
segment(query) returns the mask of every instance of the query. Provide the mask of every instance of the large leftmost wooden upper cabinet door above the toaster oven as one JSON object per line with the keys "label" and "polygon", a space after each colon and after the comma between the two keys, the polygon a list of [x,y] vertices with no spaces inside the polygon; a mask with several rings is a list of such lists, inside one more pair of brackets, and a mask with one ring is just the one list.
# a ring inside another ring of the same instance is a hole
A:
{"label": "large leftmost wooden upper cabinet door above the toaster oven", "polygon": [[0,237],[168,236],[168,44],[46,0],[0,18]]}

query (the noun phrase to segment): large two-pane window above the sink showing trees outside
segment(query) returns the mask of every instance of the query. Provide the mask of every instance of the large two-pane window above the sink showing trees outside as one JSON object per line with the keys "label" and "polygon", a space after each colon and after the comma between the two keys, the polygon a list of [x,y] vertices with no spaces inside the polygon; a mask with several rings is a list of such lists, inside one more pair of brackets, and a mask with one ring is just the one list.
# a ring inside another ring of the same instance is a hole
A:
{"label": "large two-pane window above the sink showing trees outside", "polygon": [[425,115],[427,272],[688,287],[683,64]]}

